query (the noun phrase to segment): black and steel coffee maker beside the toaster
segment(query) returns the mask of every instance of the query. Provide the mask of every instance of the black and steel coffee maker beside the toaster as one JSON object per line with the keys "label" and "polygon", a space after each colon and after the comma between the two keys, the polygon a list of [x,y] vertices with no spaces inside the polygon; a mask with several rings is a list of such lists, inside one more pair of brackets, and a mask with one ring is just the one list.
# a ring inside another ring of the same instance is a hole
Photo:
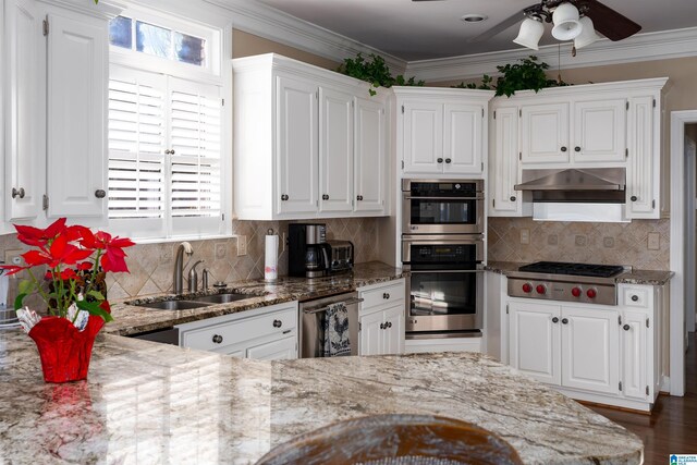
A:
{"label": "black and steel coffee maker beside the toaster", "polygon": [[329,274],[331,246],[326,224],[289,224],[288,273],[292,277],[319,278]]}

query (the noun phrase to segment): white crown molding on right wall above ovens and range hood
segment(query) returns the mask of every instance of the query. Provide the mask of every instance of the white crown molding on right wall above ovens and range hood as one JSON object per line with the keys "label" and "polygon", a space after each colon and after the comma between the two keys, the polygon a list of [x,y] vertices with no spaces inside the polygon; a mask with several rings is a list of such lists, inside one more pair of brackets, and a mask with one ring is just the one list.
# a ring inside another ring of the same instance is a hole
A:
{"label": "white crown molding on right wall above ovens and range hood", "polygon": [[406,73],[429,83],[469,79],[481,77],[482,74],[499,74],[497,65],[511,63],[530,54],[548,63],[551,69],[559,68],[560,54],[562,69],[695,57],[697,27],[637,34],[616,42],[601,39],[578,50],[576,57],[571,57],[571,44],[564,42],[561,44],[561,53],[560,46],[552,45],[540,47],[538,51],[515,49],[412,61],[406,66]]}

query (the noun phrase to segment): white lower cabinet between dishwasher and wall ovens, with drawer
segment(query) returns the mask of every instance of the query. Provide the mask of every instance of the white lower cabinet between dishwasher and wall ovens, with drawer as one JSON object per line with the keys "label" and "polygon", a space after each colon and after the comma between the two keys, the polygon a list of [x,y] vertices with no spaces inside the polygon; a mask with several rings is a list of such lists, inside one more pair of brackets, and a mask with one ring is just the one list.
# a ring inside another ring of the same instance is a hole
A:
{"label": "white lower cabinet between dishwasher and wall ovens, with drawer", "polygon": [[358,355],[404,353],[404,279],[359,287]]}

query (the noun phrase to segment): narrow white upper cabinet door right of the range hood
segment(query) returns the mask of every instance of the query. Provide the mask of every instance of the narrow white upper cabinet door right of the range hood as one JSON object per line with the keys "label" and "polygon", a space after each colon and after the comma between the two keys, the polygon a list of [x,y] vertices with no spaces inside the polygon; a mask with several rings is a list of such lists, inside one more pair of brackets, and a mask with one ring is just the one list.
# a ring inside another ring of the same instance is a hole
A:
{"label": "narrow white upper cabinet door right of the range hood", "polygon": [[659,154],[655,154],[653,97],[629,99],[627,218],[658,219]]}

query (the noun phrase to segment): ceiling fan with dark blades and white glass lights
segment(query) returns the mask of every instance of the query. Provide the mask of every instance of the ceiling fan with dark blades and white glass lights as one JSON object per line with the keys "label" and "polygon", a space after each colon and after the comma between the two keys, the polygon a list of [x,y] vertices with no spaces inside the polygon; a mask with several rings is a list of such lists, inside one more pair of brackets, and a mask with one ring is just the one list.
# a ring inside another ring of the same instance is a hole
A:
{"label": "ceiling fan with dark blades and white glass lights", "polygon": [[514,41],[535,50],[538,49],[537,42],[545,32],[543,23],[554,23],[552,29],[554,38],[574,40],[576,48],[592,44],[598,38],[596,30],[613,41],[626,39],[641,30],[640,25],[598,0],[541,0],[467,41],[488,40],[523,17],[521,33]]}

